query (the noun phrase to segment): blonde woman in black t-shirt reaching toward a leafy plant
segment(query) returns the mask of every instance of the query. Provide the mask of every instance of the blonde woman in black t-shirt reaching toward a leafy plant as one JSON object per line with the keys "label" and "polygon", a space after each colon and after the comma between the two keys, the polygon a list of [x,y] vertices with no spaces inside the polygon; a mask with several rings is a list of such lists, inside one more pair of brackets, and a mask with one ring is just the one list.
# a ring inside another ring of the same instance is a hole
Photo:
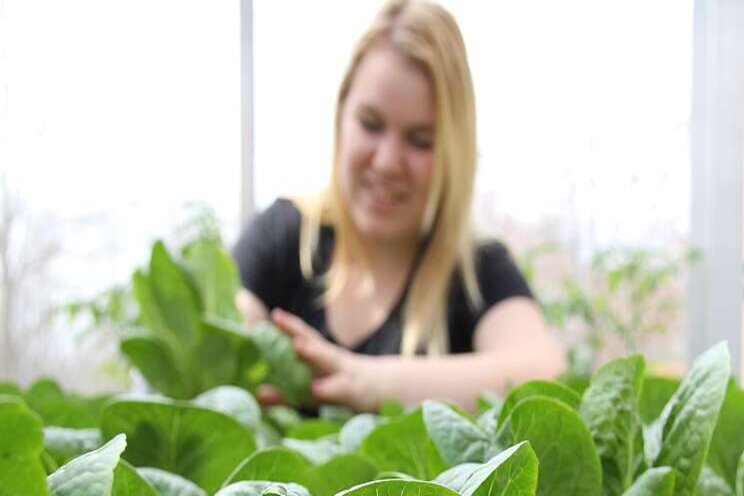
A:
{"label": "blonde woman in black t-shirt reaching toward a leafy plant", "polygon": [[[341,85],[334,156],[321,195],[278,200],[234,251],[238,306],[293,339],[315,399],[472,408],[484,390],[560,372],[508,252],[471,230],[473,86],[442,7],[383,7]],[[270,389],[259,399],[280,400]]]}

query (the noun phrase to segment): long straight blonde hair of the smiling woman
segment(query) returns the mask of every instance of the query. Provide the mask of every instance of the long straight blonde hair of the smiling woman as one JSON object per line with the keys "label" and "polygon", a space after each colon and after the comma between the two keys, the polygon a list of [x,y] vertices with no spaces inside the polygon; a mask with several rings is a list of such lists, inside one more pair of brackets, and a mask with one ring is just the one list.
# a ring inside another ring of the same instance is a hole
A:
{"label": "long straight blonde hair of the smiling woman", "polygon": [[441,6],[414,0],[391,0],[355,46],[338,94],[335,116],[334,170],[331,184],[318,197],[298,202],[303,213],[300,265],[313,273],[321,224],[333,225],[336,245],[325,275],[324,304],[343,289],[349,267],[361,260],[361,240],[339,184],[341,115],[354,74],[364,55],[379,42],[422,68],[434,88],[436,124],[434,171],[422,219],[426,245],[410,281],[403,307],[401,352],[413,355],[448,352],[447,296],[453,273],[460,271],[469,303],[481,304],[474,268],[470,205],[475,178],[475,99],[465,44],[457,23]]}

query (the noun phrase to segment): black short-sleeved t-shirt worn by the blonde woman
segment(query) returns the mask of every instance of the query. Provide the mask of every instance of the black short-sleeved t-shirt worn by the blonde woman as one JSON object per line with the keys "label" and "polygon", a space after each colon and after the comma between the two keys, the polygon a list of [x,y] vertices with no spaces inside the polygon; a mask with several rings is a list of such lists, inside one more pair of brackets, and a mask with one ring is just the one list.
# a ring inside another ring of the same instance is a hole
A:
{"label": "black short-sleeved t-shirt worn by the blonde woman", "polygon": [[[323,287],[307,280],[300,269],[301,213],[289,200],[279,199],[259,214],[245,229],[233,256],[243,286],[256,295],[266,308],[279,307],[301,317],[326,339],[336,342],[328,331],[325,309],[321,307]],[[329,226],[320,232],[313,260],[317,274],[329,267],[334,233]],[[512,296],[532,297],[524,277],[503,244],[481,244],[475,256],[475,271],[483,297],[483,306],[473,309],[468,303],[459,271],[452,276],[447,299],[447,319],[451,353],[473,351],[473,333],[486,311]],[[405,291],[385,322],[352,348],[368,355],[400,353],[402,306]]]}

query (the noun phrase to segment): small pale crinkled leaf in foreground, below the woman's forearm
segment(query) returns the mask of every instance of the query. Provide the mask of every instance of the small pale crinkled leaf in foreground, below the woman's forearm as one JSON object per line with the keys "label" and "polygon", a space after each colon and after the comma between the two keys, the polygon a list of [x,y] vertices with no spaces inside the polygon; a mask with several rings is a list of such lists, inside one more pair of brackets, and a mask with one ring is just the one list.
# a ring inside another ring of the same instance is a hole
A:
{"label": "small pale crinkled leaf in foreground, below the woman's forearm", "polygon": [[486,459],[491,440],[483,429],[437,401],[425,401],[423,413],[429,437],[448,466]]}

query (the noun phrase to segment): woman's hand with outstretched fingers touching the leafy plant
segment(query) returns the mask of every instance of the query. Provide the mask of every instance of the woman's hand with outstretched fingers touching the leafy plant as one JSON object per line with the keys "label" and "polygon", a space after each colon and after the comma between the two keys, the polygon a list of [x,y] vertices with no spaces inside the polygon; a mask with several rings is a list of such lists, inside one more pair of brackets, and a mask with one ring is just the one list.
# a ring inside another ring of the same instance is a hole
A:
{"label": "woman's hand with outstretched fingers touching the leafy plant", "polygon": [[[312,395],[318,403],[336,403],[357,411],[379,407],[373,375],[374,357],[352,353],[328,342],[304,320],[274,309],[271,321],[292,339],[295,352],[310,367],[315,378]],[[275,391],[262,390],[259,400],[279,399]],[[275,402],[275,401],[274,401]]]}

